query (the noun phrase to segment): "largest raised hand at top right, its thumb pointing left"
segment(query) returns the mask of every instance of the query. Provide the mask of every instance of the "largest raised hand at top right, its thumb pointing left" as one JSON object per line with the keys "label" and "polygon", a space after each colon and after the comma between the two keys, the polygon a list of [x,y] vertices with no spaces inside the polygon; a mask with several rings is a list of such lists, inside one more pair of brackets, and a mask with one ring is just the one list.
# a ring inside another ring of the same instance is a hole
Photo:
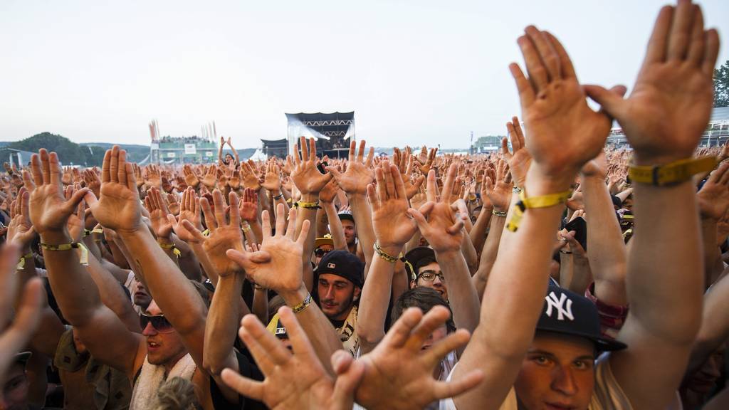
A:
{"label": "largest raised hand at top right, its thumb pointing left", "polygon": [[718,53],[719,35],[704,31],[701,8],[679,1],[660,10],[628,98],[596,85],[585,90],[623,127],[639,165],[690,158],[712,112]]}

